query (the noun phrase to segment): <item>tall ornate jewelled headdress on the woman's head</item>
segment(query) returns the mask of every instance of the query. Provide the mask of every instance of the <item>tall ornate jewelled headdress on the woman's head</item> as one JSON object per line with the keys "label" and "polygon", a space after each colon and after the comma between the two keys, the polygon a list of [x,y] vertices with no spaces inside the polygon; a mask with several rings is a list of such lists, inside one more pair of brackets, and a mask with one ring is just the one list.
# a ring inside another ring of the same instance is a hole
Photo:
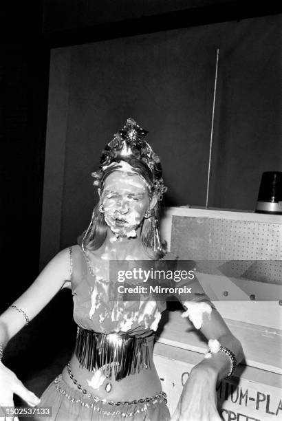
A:
{"label": "tall ornate jewelled headdress on the woman's head", "polygon": [[153,178],[153,193],[162,200],[162,195],[167,188],[162,179],[160,158],[144,140],[147,133],[148,131],[142,129],[133,118],[128,118],[124,127],[114,135],[113,140],[102,151],[99,170],[91,174],[96,179],[94,185],[100,186],[103,171],[113,162],[129,161],[134,158],[147,164]]}

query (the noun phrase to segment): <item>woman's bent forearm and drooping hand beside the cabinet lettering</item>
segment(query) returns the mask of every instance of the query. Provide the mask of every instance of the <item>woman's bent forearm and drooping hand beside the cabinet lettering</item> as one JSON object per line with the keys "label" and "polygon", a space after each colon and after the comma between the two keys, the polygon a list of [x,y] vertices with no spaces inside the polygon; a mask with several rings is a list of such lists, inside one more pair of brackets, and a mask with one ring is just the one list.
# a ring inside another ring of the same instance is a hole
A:
{"label": "woman's bent forearm and drooping hand beside the cabinet lettering", "polygon": [[[210,314],[202,314],[202,326],[199,329],[208,341],[216,339],[221,346],[230,349],[237,363],[240,363],[243,358],[241,343],[230,332],[215,308]],[[171,421],[220,421],[216,385],[217,381],[228,376],[230,368],[230,358],[224,352],[216,352],[195,365]]]}

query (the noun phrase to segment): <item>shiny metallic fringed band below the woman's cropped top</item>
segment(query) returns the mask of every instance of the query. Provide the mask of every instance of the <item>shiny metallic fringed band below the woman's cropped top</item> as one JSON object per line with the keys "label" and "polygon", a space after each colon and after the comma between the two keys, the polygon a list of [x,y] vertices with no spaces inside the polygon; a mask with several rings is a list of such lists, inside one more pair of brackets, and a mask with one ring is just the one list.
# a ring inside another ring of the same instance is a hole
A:
{"label": "shiny metallic fringed band below the woman's cropped top", "polygon": [[103,334],[78,326],[74,352],[80,367],[89,371],[100,369],[109,380],[122,380],[151,367],[149,342],[153,335]]}

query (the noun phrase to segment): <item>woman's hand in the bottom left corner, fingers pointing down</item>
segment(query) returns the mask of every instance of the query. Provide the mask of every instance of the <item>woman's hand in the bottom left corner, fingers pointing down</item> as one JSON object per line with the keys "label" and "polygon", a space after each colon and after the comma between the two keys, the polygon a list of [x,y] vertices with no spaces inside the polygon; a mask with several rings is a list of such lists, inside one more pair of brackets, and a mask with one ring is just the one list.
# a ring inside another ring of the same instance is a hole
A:
{"label": "woman's hand in the bottom left corner, fingers pointing down", "polygon": [[[21,380],[19,380],[19,378],[0,361],[0,407],[14,407],[14,393],[28,402],[31,407],[35,407],[40,402],[40,399],[37,398],[32,391],[29,391]],[[1,415],[3,415],[2,412],[3,411],[0,413],[0,420],[19,421],[18,417],[1,417]]]}

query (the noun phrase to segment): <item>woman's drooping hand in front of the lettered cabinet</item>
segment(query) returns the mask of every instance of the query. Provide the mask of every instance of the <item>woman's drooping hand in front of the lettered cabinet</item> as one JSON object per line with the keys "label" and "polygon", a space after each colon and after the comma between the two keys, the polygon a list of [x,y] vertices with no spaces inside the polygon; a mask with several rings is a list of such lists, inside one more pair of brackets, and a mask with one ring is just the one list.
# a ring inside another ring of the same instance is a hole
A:
{"label": "woman's drooping hand in front of the lettered cabinet", "polygon": [[221,421],[217,411],[216,371],[204,365],[191,370],[171,421]]}

